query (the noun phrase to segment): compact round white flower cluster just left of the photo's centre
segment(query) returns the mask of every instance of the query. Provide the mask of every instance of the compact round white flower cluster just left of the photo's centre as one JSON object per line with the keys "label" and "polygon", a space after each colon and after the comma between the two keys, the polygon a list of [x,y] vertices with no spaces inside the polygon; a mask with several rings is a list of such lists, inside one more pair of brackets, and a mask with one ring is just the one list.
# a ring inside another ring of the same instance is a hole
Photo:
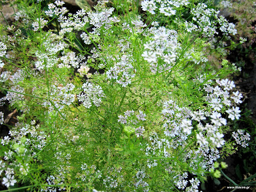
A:
{"label": "compact round white flower cluster just left of the photo's centre", "polygon": [[77,98],[82,102],[85,108],[92,107],[92,103],[99,107],[101,104],[101,99],[105,97],[105,94],[99,85],[86,82],[83,84],[83,93],[77,95]]}

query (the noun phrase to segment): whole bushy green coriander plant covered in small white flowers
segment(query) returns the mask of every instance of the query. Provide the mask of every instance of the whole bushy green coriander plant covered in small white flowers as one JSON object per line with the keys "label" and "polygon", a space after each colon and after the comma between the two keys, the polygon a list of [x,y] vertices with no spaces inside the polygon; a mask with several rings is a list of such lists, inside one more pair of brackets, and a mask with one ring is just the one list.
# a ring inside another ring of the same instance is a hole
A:
{"label": "whole bushy green coriander plant covered in small white flowers", "polygon": [[248,132],[225,137],[243,95],[236,65],[208,61],[214,35],[236,35],[211,4],[12,4],[0,42],[1,103],[19,111],[1,140],[10,191],[199,191],[248,145]]}

